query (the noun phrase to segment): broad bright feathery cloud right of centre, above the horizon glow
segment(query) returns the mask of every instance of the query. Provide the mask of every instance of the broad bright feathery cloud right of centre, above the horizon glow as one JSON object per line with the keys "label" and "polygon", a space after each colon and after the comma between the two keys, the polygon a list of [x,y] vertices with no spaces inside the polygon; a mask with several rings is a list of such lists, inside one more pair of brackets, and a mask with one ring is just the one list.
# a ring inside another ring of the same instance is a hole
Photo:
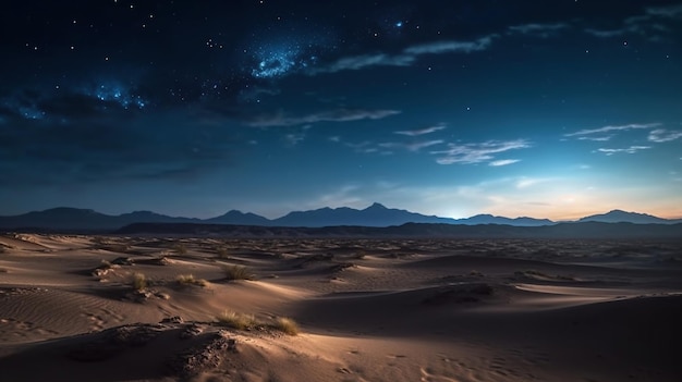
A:
{"label": "broad bright feathery cloud right of centre, above the horizon glow", "polygon": [[515,139],[507,141],[488,140],[464,145],[448,144],[448,147],[443,151],[431,151],[431,153],[440,156],[436,160],[439,164],[492,162],[496,153],[529,148],[531,144],[526,139]]}

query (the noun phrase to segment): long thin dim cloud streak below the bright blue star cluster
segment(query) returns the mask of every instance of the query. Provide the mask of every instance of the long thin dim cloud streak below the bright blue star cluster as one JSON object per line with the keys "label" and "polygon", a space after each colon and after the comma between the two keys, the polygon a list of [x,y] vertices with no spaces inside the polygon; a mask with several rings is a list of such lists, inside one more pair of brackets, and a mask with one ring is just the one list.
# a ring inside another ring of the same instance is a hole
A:
{"label": "long thin dim cloud streak below the bright blue star cluster", "polygon": [[361,120],[381,120],[400,114],[399,110],[365,110],[365,109],[334,109],[318,113],[289,116],[283,113],[257,115],[246,122],[254,127],[295,126],[317,122],[351,122]]}

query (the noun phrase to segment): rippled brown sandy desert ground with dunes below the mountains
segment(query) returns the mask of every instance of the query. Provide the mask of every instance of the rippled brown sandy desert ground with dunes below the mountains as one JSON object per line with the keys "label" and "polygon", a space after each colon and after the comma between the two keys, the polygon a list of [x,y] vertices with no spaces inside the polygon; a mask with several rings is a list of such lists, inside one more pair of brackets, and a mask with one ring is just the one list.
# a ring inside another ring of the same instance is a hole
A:
{"label": "rippled brown sandy desert ground with dunes below the mountains", "polygon": [[682,243],[7,234],[0,380],[682,381],[681,293]]}

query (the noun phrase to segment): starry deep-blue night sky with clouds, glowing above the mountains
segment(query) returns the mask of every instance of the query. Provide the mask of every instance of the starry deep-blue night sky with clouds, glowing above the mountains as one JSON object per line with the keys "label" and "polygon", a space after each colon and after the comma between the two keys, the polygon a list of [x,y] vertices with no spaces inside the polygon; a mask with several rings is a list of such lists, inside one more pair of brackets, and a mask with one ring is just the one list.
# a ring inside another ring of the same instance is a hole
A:
{"label": "starry deep-blue night sky with clouds, glowing above the mountains", "polygon": [[13,2],[0,214],[682,217],[682,2]]}

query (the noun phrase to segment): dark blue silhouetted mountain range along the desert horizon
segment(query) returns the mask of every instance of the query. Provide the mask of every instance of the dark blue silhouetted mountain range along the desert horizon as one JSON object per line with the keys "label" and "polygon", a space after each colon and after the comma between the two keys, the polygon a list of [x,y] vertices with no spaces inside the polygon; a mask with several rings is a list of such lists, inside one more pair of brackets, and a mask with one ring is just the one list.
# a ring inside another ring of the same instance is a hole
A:
{"label": "dark blue silhouetted mountain range along the desert horizon", "polygon": [[[636,223],[636,224],[675,224],[682,219],[669,220],[650,214],[612,210],[604,214],[594,214],[575,222]],[[477,214],[465,219],[450,219],[425,215],[407,210],[387,208],[378,202],[358,210],[349,207],[320,208],[309,211],[294,211],[278,219],[267,219],[255,213],[231,210],[210,219],[169,217],[150,211],[135,211],[119,215],[109,215],[90,209],[59,207],[44,211],[34,211],[19,215],[0,217],[2,230],[62,230],[62,231],[107,231],[118,230],[133,223],[194,223],[194,224],[232,224],[252,226],[281,227],[322,227],[322,226],[368,226],[382,227],[405,223],[430,224],[502,224],[512,226],[553,225],[548,219],[504,218],[491,214]]]}

